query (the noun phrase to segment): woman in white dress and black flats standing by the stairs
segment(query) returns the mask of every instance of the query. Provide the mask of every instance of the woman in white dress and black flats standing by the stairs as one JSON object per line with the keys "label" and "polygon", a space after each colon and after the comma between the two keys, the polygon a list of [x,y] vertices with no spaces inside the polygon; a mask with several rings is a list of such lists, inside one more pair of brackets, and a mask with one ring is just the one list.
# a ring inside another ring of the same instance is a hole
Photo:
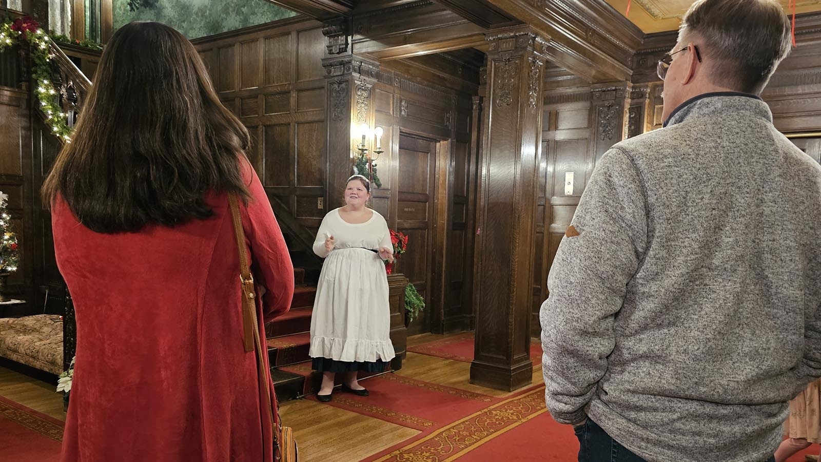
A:
{"label": "woman in white dress and black flats standing by the stairs", "polygon": [[388,275],[383,260],[393,261],[388,223],[366,206],[370,183],[348,178],[345,206],[322,220],[314,252],[325,258],[310,323],[310,357],[322,372],[317,398],[328,402],[337,373],[342,390],[367,396],[357,372],[381,372],[394,357],[390,339]]}

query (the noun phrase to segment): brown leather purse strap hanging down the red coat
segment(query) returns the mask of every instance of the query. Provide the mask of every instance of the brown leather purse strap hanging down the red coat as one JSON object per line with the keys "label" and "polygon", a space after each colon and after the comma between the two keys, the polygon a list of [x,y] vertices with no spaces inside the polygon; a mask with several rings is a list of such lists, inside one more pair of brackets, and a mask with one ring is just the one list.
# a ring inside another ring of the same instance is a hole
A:
{"label": "brown leather purse strap hanging down the red coat", "polygon": [[268,409],[268,418],[271,419],[274,444],[278,444],[277,426],[273,418],[273,406],[271,405],[271,388],[268,383],[268,374],[265,371],[265,360],[263,354],[267,349],[262,348],[262,340],[259,338],[259,325],[257,324],[256,289],[254,278],[251,276],[250,265],[248,263],[247,249],[245,248],[245,233],[242,230],[242,219],[240,217],[239,199],[236,194],[228,194],[228,205],[231,207],[232,221],[234,224],[234,235],[236,236],[236,247],[240,253],[240,282],[242,289],[242,322],[243,322],[243,342],[245,352],[256,350],[257,376],[259,377],[259,390],[263,395],[263,406]]}

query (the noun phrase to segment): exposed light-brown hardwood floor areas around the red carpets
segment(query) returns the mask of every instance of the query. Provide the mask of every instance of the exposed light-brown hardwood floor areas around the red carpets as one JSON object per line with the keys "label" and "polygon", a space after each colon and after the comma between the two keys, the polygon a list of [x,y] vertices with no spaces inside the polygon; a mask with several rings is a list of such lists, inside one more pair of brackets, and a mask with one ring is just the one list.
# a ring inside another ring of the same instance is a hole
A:
{"label": "exposed light-brown hardwood floor areas around the red carpets", "polygon": [[[408,339],[408,344],[420,344],[446,338],[447,335],[423,334]],[[470,384],[470,363],[408,353],[397,375],[430,381],[484,395],[511,395]],[[534,367],[533,384],[542,382],[542,369]],[[367,379],[363,381],[367,386]],[[0,367],[0,396],[65,419],[62,395],[54,387],[20,373]],[[408,427],[370,418],[360,413],[320,404],[313,400],[294,400],[280,407],[282,421],[292,427],[300,442],[300,460],[317,462],[351,462],[362,460],[419,433]]]}

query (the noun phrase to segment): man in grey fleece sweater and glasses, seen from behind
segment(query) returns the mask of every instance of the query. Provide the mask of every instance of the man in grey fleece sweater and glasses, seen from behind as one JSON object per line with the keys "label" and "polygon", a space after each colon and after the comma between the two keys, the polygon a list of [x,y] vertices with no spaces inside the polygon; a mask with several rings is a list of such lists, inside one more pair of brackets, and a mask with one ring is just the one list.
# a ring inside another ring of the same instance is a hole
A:
{"label": "man in grey fleece sweater and glasses, seen from behind", "polygon": [[771,460],[821,377],[821,168],[757,96],[789,49],[775,0],[695,2],[665,127],[597,165],[540,314],[580,461]]}

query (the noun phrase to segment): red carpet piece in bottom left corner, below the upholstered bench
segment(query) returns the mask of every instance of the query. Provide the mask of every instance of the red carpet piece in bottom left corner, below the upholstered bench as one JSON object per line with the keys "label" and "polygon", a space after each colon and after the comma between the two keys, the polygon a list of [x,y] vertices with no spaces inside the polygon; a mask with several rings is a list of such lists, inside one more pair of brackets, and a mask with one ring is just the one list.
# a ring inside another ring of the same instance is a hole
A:
{"label": "red carpet piece in bottom left corner, below the upholstered bench", "polygon": [[0,459],[15,462],[60,460],[61,420],[0,396]]}

